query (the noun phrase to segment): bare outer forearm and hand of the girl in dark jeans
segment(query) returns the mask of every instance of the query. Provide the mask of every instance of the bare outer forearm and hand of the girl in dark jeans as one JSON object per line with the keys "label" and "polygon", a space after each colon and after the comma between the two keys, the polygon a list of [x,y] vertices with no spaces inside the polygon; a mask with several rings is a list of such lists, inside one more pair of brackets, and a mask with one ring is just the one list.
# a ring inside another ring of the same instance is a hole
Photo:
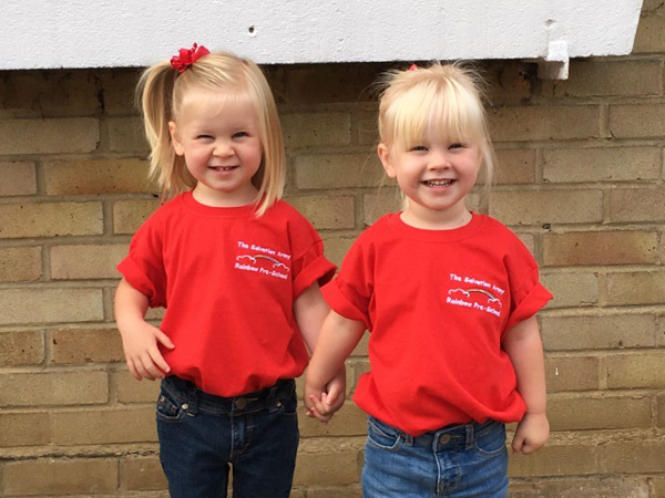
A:
{"label": "bare outer forearm and hand of the girl in dark jeans", "polygon": [[127,367],[139,381],[162,378],[171,371],[157,347],[157,342],[168,349],[174,347],[166,334],[145,322],[147,308],[147,297],[122,279],[115,291],[115,321],[122,336]]}

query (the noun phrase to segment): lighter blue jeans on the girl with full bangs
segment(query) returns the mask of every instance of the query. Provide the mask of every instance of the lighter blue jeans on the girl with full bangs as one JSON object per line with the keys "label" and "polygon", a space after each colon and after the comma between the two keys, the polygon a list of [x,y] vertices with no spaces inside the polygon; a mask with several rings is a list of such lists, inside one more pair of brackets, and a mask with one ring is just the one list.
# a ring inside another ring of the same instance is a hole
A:
{"label": "lighter blue jeans on the girl with full bangs", "polygon": [[419,437],[375,417],[367,424],[365,498],[508,496],[503,424],[451,425]]}

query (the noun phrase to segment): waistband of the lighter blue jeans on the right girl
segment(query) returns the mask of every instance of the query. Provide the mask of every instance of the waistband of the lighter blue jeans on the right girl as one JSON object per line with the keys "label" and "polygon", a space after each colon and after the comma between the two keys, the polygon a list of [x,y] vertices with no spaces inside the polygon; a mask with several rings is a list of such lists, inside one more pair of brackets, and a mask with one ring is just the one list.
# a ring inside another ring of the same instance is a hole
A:
{"label": "waistband of the lighter blue jeans on the right girl", "polygon": [[[372,419],[374,422],[377,422],[376,418],[372,417]],[[383,422],[378,422],[379,424],[387,425]],[[503,423],[493,419],[488,419],[482,424],[470,422],[468,424],[447,425],[440,429],[421,434],[420,436],[411,436],[397,427],[388,427],[399,434],[409,446],[424,446],[432,448],[434,452],[440,452],[443,448],[453,446],[464,446],[467,449],[470,449],[473,447],[477,437],[490,430],[502,428],[503,425]]]}

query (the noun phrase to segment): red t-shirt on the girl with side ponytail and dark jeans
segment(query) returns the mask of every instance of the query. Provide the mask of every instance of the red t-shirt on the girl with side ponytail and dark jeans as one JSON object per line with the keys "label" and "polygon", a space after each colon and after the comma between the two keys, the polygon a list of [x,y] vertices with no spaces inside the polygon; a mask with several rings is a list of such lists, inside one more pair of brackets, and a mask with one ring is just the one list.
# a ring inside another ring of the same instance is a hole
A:
{"label": "red t-shirt on the girl with side ponytail and dark jeans", "polygon": [[166,309],[160,329],[175,349],[161,351],[172,373],[224,397],[303,373],[294,301],[335,273],[320,237],[288,204],[256,218],[254,206],[208,207],[191,193],[145,221],[117,269]]}

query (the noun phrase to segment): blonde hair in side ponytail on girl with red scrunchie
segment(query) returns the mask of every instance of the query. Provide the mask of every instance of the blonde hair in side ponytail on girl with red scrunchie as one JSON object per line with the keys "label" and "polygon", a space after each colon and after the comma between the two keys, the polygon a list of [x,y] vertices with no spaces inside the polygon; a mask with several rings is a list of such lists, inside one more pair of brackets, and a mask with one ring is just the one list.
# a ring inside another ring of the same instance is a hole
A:
{"label": "blonde hair in side ponytail on girl with red scrunchie", "polygon": [[151,146],[151,178],[162,188],[163,198],[196,186],[184,157],[175,154],[168,131],[168,122],[180,115],[192,89],[219,93],[224,98],[246,100],[254,106],[263,159],[252,183],[258,189],[256,200],[263,198],[256,210],[257,216],[262,216],[284,191],[286,158],[282,125],[273,92],[260,69],[232,53],[204,55],[181,74],[170,61],[158,62],[143,72],[136,100]]}

